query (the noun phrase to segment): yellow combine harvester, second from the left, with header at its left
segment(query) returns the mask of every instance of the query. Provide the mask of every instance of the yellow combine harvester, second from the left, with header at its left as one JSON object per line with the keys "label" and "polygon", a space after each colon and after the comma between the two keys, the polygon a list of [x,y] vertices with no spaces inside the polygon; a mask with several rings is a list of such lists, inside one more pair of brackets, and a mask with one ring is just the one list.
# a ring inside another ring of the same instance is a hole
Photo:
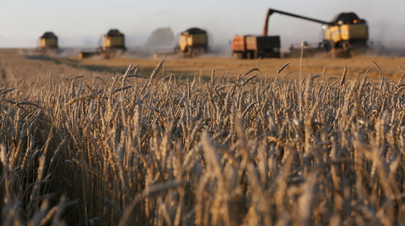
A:
{"label": "yellow combine harvester, second from the left, with header at its left", "polygon": [[124,34],[118,29],[110,29],[108,33],[103,36],[102,46],[98,47],[96,51],[82,50],[79,53],[79,57],[88,58],[101,55],[103,58],[112,58],[126,50]]}

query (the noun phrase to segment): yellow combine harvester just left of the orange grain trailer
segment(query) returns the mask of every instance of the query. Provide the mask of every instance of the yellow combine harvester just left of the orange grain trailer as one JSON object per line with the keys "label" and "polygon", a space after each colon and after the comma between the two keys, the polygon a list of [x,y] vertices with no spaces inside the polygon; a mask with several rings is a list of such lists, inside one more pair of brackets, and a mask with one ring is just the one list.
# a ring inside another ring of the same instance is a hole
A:
{"label": "yellow combine harvester just left of the orange grain trailer", "polygon": [[162,55],[181,55],[195,57],[204,54],[208,51],[208,35],[207,31],[192,27],[180,34],[179,44],[173,52],[156,51],[154,58]]}

